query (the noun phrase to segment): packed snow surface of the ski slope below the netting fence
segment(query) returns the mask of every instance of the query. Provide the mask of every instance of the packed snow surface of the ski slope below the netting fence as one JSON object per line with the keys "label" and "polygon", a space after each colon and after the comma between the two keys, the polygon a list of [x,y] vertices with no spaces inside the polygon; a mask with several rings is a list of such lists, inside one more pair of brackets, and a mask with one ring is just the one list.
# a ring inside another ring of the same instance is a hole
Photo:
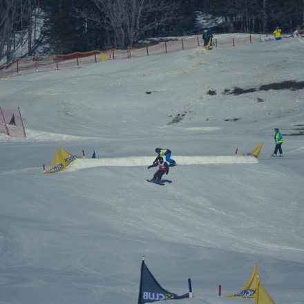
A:
{"label": "packed snow surface of the ski slope below the netting fence", "polygon": [[[142,256],[170,292],[191,278],[194,297],[171,303],[240,303],[218,285],[238,292],[256,261],[276,304],[302,304],[304,94],[259,88],[303,82],[303,50],[290,38],[1,79],[28,137],[0,134],[0,304],[136,303]],[[242,156],[260,142],[259,160]],[[44,174],[59,145],[87,158]],[[146,182],[156,147],[178,164],[164,187]]]}

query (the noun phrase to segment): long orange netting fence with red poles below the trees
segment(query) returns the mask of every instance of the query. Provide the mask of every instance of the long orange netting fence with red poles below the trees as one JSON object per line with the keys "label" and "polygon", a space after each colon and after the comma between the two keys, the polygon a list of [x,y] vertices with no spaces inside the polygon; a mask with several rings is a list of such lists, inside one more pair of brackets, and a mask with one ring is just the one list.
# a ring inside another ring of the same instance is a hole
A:
{"label": "long orange netting fence with red poles below the trees", "polygon": [[[260,42],[260,38],[251,35],[231,39],[213,39],[213,47],[238,46],[240,44],[253,44]],[[67,55],[51,55],[18,58],[15,61],[0,66],[0,78],[19,75],[20,73],[31,73],[35,70],[57,70],[62,68],[73,68],[87,66],[99,61],[113,59],[128,59],[157,54],[173,53],[181,50],[189,50],[202,46],[201,37],[183,37],[181,39],[167,40],[153,46],[143,48],[127,48],[126,50],[92,50],[90,52],[75,52]]]}

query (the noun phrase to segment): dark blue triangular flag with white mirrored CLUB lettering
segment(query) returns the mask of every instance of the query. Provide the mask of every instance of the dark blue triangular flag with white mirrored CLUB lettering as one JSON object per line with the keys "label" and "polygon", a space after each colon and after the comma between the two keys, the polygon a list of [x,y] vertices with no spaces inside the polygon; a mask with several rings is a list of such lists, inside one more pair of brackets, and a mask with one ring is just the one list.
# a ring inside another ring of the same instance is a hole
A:
{"label": "dark blue triangular flag with white mirrored CLUB lettering", "polygon": [[189,293],[178,296],[177,294],[173,294],[173,292],[168,292],[166,289],[163,289],[144,264],[144,260],[142,260],[138,304],[164,300],[179,300],[180,298],[189,298]]}

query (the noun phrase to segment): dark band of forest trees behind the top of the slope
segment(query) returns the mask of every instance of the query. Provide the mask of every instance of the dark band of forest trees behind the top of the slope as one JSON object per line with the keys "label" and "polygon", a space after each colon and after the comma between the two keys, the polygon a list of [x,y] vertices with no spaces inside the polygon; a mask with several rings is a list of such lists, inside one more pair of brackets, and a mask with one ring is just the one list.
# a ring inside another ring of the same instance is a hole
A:
{"label": "dark band of forest trees behind the top of the slope", "polygon": [[[304,0],[1,0],[0,60],[139,46],[149,37],[304,28]],[[198,12],[205,23],[195,27]]]}

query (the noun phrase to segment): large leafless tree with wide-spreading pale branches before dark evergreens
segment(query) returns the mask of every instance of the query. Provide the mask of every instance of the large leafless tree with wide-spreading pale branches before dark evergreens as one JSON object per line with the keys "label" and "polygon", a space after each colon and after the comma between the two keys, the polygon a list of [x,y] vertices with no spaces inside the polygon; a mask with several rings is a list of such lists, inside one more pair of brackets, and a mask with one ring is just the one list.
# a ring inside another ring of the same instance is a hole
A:
{"label": "large leafless tree with wide-spreading pale branches before dark evergreens", "polygon": [[92,0],[96,10],[79,12],[81,17],[99,23],[113,32],[113,43],[119,48],[133,46],[148,30],[178,18],[174,0]]}

